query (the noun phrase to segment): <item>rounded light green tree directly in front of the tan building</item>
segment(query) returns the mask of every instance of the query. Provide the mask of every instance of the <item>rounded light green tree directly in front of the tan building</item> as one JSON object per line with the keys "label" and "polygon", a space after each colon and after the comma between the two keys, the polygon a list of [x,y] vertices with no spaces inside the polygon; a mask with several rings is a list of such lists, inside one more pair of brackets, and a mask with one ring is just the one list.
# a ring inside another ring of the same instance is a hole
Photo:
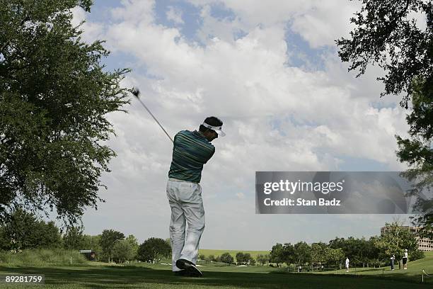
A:
{"label": "rounded light green tree directly in front of the tan building", "polygon": [[375,239],[375,246],[380,251],[381,259],[388,261],[390,256],[395,255],[400,266],[405,249],[408,249],[409,253],[417,249],[417,239],[408,227],[403,227],[400,222],[386,223],[385,227],[381,237]]}

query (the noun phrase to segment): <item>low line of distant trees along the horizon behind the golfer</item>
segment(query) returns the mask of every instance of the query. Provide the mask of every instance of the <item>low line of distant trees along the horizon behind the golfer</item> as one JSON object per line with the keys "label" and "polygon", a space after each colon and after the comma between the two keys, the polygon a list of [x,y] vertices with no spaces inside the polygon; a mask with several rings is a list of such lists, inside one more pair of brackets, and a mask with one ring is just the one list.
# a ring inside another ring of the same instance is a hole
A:
{"label": "low line of distant trees along the horizon behind the golfer", "polygon": [[[403,258],[404,250],[408,249],[411,261],[424,256],[417,250],[417,239],[407,229],[402,229],[396,221],[386,223],[387,229],[380,236],[369,239],[355,237],[335,237],[328,242],[298,242],[296,244],[277,243],[272,246],[269,254],[259,254],[255,258],[250,253],[237,252],[232,256],[229,252],[221,256],[204,256],[200,261],[216,261],[221,263],[236,263],[238,265],[255,265],[256,263],[272,266],[311,268],[326,266],[338,268],[346,257],[354,266],[381,266],[387,263],[391,255],[396,260]],[[64,234],[54,224],[39,220],[32,212],[23,209],[16,210],[6,224],[0,226],[0,249],[19,252],[23,249],[93,249],[98,261],[115,261],[125,263],[132,260],[158,261],[171,256],[169,239],[151,237],[139,244],[133,234],[125,237],[122,232],[114,229],[104,229],[101,234],[91,236],[83,234],[83,227],[68,227]],[[400,262],[399,262],[400,263]]]}

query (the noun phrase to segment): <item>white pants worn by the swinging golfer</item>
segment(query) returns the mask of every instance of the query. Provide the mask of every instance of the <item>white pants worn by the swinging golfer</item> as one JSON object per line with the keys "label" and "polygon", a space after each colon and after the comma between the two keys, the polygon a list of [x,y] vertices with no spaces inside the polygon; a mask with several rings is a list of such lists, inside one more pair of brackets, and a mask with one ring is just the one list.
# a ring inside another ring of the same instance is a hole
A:
{"label": "white pants worn by the swinging golfer", "polygon": [[[198,183],[169,179],[167,198],[171,207],[170,242],[173,271],[178,259],[197,262],[200,237],[204,230],[202,187]],[[188,224],[185,238],[185,227]]]}

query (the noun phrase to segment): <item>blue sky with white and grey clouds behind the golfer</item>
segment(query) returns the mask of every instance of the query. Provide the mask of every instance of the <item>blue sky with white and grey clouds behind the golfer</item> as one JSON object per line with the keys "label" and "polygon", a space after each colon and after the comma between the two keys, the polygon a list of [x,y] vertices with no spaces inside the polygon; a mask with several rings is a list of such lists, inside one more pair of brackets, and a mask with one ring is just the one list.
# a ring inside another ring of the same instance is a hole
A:
{"label": "blue sky with white and grey clouds behind the golfer", "polygon": [[[334,237],[370,237],[398,215],[256,215],[255,171],[401,171],[395,135],[407,135],[400,96],[379,97],[383,75],[356,78],[337,56],[357,1],[103,1],[74,8],[83,41],[105,40],[105,69],[122,81],[168,133],[223,120],[204,165],[203,249],[269,250]],[[414,16],[422,20],[421,16]],[[420,21],[422,26],[422,21]],[[117,229],[168,238],[166,198],[173,145],[132,99],[107,115],[117,153],[101,181],[105,203],[83,216],[86,234]]]}

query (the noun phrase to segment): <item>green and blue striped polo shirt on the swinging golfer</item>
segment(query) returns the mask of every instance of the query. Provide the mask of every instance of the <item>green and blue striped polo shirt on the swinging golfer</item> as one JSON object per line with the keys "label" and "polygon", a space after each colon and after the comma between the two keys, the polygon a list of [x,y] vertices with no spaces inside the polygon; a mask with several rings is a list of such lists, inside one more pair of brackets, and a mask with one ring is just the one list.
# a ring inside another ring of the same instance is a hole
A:
{"label": "green and blue striped polo shirt on the swinging golfer", "polygon": [[203,164],[214,155],[215,147],[204,137],[202,132],[182,130],[175,135],[173,160],[169,178],[200,183]]}

